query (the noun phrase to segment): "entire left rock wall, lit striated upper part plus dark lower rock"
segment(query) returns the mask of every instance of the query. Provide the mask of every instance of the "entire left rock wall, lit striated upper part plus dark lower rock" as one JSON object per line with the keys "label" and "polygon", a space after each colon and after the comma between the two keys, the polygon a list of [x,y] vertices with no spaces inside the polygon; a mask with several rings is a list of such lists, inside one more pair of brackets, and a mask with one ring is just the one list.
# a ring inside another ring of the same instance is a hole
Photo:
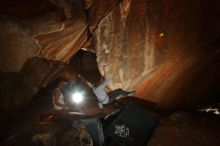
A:
{"label": "entire left rock wall, lit striated upper part plus dark lower rock", "polygon": [[0,109],[14,113],[87,41],[81,0],[0,2]]}

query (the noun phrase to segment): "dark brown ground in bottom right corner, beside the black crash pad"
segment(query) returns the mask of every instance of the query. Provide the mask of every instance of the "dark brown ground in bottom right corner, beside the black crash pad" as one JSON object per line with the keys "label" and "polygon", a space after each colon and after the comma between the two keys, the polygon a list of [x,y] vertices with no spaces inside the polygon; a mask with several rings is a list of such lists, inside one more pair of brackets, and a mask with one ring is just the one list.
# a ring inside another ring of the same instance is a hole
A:
{"label": "dark brown ground in bottom right corner, beside the black crash pad", "polygon": [[161,117],[148,146],[219,146],[220,116],[176,111]]}

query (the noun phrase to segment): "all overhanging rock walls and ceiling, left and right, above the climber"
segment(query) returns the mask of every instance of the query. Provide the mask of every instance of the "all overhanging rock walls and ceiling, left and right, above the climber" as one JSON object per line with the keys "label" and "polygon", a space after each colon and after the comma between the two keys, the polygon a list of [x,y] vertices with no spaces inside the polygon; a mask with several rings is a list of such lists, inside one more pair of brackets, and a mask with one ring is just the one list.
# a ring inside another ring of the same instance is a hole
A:
{"label": "all overhanging rock walls and ceiling, left and right, above the climber", "polygon": [[96,54],[111,89],[136,90],[162,108],[204,104],[220,95],[219,6],[218,0],[3,0],[1,107],[28,103],[81,48]]}

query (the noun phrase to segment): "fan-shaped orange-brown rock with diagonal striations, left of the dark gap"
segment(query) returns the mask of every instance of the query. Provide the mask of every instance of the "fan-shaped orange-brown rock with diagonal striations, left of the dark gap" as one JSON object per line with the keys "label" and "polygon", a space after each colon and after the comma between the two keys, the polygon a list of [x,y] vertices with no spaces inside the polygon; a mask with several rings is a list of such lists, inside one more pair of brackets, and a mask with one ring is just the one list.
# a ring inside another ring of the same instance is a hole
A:
{"label": "fan-shaped orange-brown rock with diagonal striations, left of the dark gap", "polygon": [[69,7],[63,9],[68,19],[61,21],[63,29],[35,37],[42,48],[40,55],[49,60],[69,61],[88,39],[87,18],[82,1],[69,1],[66,5]]}

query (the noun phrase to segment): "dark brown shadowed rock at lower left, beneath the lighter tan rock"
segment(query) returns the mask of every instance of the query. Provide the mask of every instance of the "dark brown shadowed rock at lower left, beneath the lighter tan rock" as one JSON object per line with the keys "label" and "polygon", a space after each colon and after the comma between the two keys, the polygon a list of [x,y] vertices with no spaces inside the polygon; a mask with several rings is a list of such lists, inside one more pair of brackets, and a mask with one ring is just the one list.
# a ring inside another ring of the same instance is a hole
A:
{"label": "dark brown shadowed rock at lower left, beneath the lighter tan rock", "polygon": [[[15,113],[27,105],[41,87],[60,76],[64,66],[44,58],[27,60],[21,73],[0,72],[0,109]],[[2,113],[0,113],[2,114]]]}

